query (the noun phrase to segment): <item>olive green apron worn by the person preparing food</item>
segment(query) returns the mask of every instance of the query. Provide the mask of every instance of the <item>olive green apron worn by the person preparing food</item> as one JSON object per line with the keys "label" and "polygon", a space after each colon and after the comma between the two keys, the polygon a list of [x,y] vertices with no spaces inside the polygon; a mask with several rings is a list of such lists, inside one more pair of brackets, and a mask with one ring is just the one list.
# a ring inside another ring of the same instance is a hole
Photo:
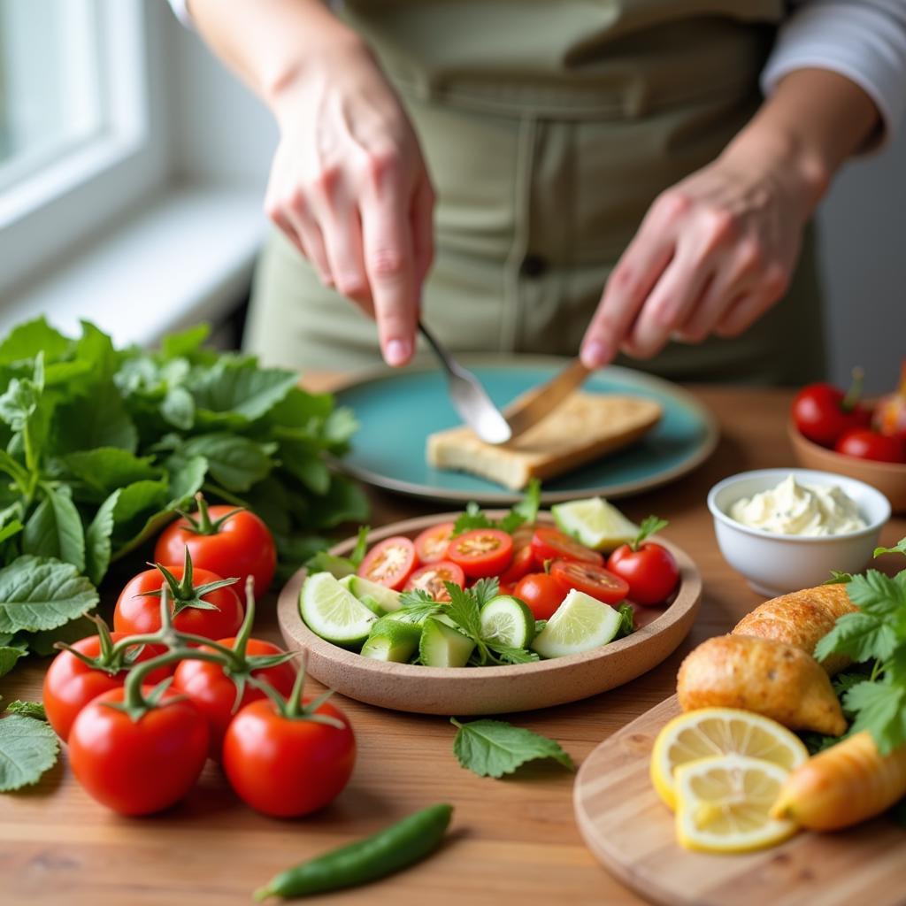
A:
{"label": "olive green apron worn by the person preparing food", "polygon": [[[457,351],[574,355],[651,201],[757,109],[783,3],[348,0],[344,14],[400,92],[438,191],[426,321]],[[806,236],[786,299],[745,335],[631,365],[798,383],[822,373],[822,335]],[[276,232],[246,347],[311,370],[380,362],[374,324]]]}

